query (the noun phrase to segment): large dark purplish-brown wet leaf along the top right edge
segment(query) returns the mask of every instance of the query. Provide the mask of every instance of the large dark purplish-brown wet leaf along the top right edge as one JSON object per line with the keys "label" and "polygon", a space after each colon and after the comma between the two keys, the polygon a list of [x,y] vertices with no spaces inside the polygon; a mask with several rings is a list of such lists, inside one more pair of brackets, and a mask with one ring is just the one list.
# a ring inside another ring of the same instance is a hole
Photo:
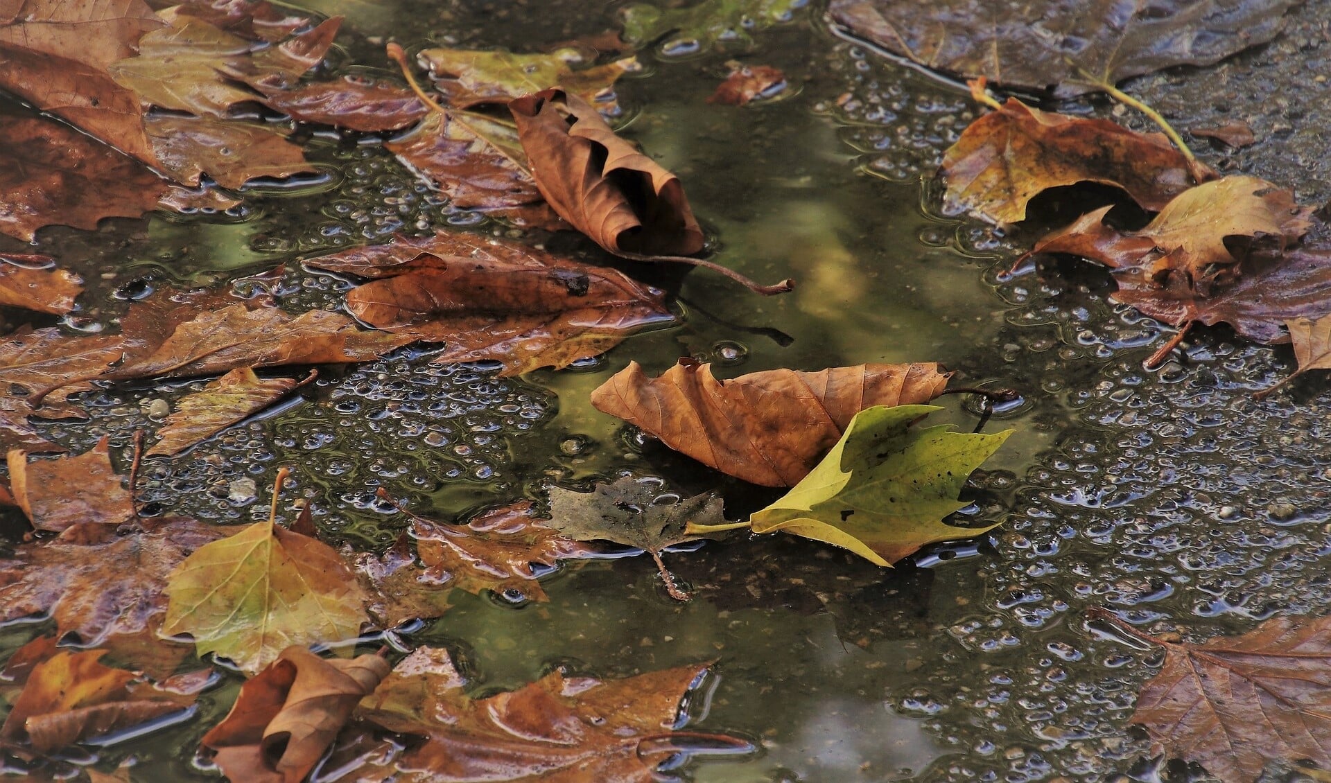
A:
{"label": "large dark purplish-brown wet leaf along the top right edge", "polygon": [[853,35],[934,70],[1059,97],[1174,65],[1210,65],[1275,37],[1294,0],[832,0]]}

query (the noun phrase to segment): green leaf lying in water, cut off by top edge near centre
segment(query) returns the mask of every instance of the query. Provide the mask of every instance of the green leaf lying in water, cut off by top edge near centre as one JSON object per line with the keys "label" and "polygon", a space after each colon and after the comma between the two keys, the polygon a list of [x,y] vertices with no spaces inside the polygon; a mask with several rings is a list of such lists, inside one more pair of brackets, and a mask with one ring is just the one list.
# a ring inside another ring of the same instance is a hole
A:
{"label": "green leaf lying in water, cut off by top edge near centre", "polygon": [[720,43],[752,44],[755,31],[791,21],[807,0],[703,0],[683,8],[635,3],[624,8],[624,40],[660,41],[667,56],[691,55]]}

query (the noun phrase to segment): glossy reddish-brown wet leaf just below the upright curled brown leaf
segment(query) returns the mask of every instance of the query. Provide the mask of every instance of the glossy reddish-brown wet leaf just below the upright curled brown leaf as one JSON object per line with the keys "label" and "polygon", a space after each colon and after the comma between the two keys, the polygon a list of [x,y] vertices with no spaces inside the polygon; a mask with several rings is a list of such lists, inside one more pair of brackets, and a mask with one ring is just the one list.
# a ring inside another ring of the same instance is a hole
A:
{"label": "glossy reddish-brown wet leaf just below the upright curled brown leaf", "polygon": [[445,343],[437,363],[500,362],[502,375],[566,367],[673,318],[662,291],[616,270],[467,234],[399,237],[306,263],[377,278],[347,294],[365,323]]}

